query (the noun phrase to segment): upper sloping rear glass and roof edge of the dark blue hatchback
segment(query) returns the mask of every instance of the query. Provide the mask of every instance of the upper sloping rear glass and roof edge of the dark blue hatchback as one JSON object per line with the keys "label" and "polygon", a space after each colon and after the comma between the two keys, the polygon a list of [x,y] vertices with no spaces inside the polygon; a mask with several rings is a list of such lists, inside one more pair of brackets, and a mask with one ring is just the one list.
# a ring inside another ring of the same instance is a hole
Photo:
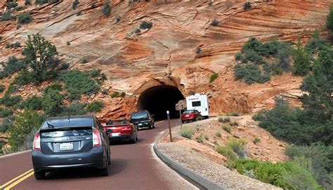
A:
{"label": "upper sloping rear glass and roof edge of the dark blue hatchback", "polygon": [[[94,115],[74,115],[64,117],[53,117],[48,118],[41,129],[53,129],[53,128],[64,128],[64,127],[93,127]],[[49,127],[51,126],[51,127]]]}

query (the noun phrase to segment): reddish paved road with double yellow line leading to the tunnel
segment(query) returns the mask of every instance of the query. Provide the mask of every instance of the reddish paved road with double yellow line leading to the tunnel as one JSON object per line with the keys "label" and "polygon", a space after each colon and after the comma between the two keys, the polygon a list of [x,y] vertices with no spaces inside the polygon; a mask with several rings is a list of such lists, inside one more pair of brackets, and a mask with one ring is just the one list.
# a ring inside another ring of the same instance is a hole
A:
{"label": "reddish paved road with double yellow line leading to the tunnel", "polygon": [[[171,120],[171,125],[176,125],[176,120]],[[93,169],[77,169],[50,172],[46,175],[46,180],[37,181],[33,172],[29,172],[32,169],[30,151],[0,157],[0,186],[4,189],[48,190],[196,189],[164,165],[153,153],[152,143],[165,129],[167,122],[163,121],[158,123],[155,129],[140,130],[137,144],[112,144],[112,160],[107,177],[98,177]],[[25,172],[27,173],[22,175]],[[7,183],[15,177],[18,177],[15,181]]]}

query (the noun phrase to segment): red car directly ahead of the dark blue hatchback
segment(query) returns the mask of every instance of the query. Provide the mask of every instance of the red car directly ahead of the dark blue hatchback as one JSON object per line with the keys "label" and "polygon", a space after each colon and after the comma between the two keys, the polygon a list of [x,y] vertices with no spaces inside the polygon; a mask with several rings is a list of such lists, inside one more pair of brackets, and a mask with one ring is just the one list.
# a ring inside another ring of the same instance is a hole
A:
{"label": "red car directly ahead of the dark blue hatchback", "polygon": [[111,120],[103,126],[104,131],[111,129],[112,133],[108,134],[109,141],[128,140],[131,143],[138,141],[138,128],[129,122],[129,120]]}

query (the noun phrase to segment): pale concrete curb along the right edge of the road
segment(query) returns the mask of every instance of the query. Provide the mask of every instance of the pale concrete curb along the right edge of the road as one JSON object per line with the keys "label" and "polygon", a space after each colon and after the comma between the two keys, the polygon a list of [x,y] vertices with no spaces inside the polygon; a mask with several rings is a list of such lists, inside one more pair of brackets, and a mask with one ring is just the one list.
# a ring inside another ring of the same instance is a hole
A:
{"label": "pale concrete curb along the right edge of the road", "polygon": [[202,175],[197,174],[196,172],[193,172],[192,170],[189,170],[183,165],[177,163],[174,159],[159,150],[157,142],[155,142],[153,149],[159,159],[161,159],[166,165],[178,172],[178,174],[182,175],[184,179],[188,180],[188,182],[198,186],[200,189],[227,189],[226,187],[221,186],[220,184],[217,184],[216,182],[213,182],[210,179],[207,179],[206,177],[203,177]]}

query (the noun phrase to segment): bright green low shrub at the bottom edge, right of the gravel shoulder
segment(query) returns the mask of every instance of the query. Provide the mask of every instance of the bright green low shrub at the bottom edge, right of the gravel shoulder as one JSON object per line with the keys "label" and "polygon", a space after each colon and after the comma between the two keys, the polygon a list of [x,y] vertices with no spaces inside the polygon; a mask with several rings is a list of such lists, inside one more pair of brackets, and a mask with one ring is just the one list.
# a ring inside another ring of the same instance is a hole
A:
{"label": "bright green low shrub at the bottom edge, right of the gravel shoulder", "polygon": [[258,160],[235,159],[230,165],[241,174],[251,171],[261,182],[280,186],[282,189],[322,189],[311,173],[297,163],[274,164]]}

